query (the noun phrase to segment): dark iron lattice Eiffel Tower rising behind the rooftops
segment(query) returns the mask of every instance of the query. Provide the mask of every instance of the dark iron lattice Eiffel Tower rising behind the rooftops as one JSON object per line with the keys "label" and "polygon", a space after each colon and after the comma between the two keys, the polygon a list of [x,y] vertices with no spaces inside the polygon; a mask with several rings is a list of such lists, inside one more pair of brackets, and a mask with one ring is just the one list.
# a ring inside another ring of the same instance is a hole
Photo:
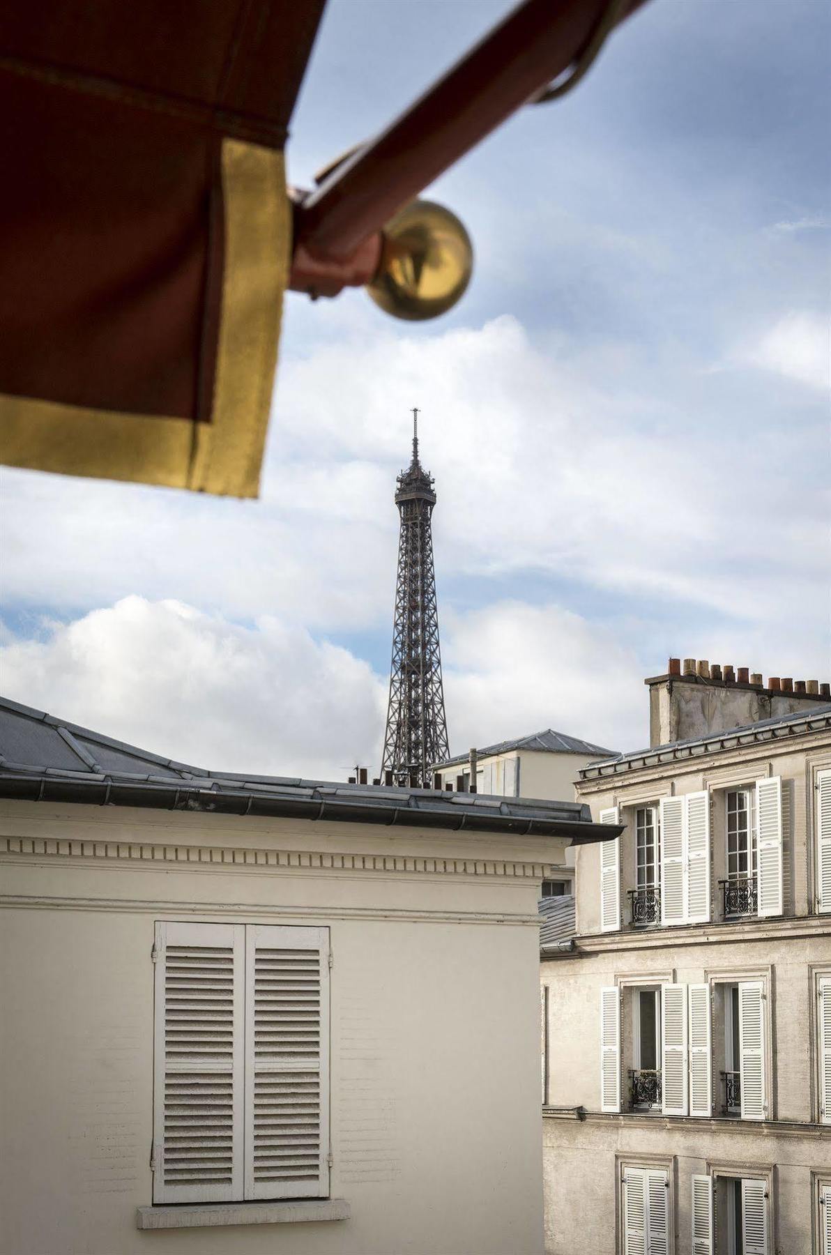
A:
{"label": "dark iron lattice Eiffel Tower rising behind the rooftops", "polygon": [[413,458],[398,476],[400,515],[393,663],[382,778],[432,788],[433,763],[449,758],[431,516],[433,479],[418,461],[418,409],[413,410]]}

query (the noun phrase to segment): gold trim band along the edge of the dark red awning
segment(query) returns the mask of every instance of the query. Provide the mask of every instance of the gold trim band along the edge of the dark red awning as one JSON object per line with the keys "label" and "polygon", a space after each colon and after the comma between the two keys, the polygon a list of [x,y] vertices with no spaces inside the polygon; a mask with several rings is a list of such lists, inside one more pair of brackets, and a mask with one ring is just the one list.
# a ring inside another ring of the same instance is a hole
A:
{"label": "gold trim band along the edge of the dark red awning", "polygon": [[291,257],[282,153],[222,142],[225,269],[211,422],[0,394],[0,461],[256,497]]}

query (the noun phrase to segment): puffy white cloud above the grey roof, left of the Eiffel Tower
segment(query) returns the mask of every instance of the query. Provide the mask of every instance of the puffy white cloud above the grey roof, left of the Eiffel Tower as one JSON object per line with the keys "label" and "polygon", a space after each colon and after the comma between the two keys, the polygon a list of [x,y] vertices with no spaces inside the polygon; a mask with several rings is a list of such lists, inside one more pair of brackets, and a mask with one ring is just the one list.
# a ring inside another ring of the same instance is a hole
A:
{"label": "puffy white cloud above the grey roof, left of the Eiffel Tower", "polygon": [[131,596],[1,658],[6,697],[218,771],[345,779],[383,720],[367,663],[271,616],[244,628]]}

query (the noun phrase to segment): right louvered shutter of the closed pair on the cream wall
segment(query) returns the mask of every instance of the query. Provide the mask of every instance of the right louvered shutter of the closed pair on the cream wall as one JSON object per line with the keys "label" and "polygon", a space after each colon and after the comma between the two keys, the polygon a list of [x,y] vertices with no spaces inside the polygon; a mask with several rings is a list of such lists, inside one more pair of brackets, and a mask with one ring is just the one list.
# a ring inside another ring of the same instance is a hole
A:
{"label": "right louvered shutter of the closed pair on the cream wall", "polygon": [[329,1194],[329,930],[249,925],[245,1197]]}

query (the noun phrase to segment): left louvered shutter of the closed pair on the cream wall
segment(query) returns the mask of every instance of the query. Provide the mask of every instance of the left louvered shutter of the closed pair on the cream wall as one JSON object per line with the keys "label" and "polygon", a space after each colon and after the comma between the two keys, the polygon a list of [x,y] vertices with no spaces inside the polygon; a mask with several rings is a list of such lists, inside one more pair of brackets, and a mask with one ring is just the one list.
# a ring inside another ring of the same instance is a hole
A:
{"label": "left louvered shutter of the closed pair on the cream wall", "polygon": [[153,1202],[242,1199],[245,925],[156,925]]}

